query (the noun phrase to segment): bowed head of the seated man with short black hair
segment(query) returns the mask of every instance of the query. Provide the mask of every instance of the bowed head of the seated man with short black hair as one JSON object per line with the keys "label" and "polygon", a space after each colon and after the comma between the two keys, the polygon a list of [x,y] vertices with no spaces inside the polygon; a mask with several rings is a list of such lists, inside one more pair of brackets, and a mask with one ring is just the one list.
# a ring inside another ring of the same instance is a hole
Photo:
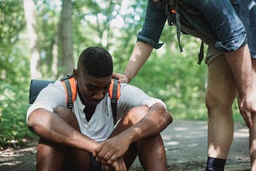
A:
{"label": "bowed head of the seated man with short black hair", "polygon": [[86,105],[98,105],[107,93],[113,74],[113,61],[108,51],[101,47],[83,50],[74,70],[79,97]]}

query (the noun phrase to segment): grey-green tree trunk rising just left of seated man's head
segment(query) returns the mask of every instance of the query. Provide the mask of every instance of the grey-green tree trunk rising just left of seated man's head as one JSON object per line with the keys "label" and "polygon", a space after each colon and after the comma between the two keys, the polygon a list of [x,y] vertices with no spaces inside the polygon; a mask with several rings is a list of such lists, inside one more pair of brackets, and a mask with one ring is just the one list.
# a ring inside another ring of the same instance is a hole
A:
{"label": "grey-green tree trunk rising just left of seated man's head", "polygon": [[74,69],[73,37],[72,37],[72,2],[63,0],[62,5],[62,74],[71,73]]}

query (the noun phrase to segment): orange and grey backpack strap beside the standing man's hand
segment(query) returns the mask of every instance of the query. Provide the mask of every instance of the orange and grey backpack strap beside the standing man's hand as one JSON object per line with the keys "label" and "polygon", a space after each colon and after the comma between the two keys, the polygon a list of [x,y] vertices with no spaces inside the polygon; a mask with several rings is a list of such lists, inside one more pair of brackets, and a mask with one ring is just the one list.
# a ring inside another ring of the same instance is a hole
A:
{"label": "orange and grey backpack strap beside the standing man's hand", "polygon": [[110,99],[111,99],[111,106],[112,106],[112,113],[114,118],[114,124],[116,123],[117,118],[117,103],[118,98],[120,97],[120,84],[118,83],[117,79],[112,78],[110,89],[109,89]]}

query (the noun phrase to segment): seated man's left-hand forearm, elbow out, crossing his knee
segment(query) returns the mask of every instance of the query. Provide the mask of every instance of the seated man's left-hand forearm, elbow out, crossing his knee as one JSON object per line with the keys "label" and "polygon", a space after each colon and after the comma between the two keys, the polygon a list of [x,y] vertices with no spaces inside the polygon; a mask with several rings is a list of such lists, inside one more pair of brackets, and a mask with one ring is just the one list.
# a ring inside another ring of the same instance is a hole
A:
{"label": "seated man's left-hand forearm, elbow out, crossing his knee", "polygon": [[92,152],[97,142],[82,135],[57,114],[37,109],[30,114],[28,125],[46,141],[61,143]]}

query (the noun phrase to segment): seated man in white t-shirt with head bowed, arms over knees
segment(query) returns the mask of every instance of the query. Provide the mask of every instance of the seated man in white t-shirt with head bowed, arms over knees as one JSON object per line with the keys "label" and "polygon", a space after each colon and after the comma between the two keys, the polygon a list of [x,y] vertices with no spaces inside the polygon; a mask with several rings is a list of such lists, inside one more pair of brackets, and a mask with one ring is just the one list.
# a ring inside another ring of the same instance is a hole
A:
{"label": "seated man in white t-shirt with head bowed, arms over knees", "polygon": [[27,125],[40,137],[37,170],[126,170],[137,155],[143,169],[166,170],[160,135],[172,121],[166,105],[122,83],[114,123],[108,93],[113,62],[100,47],[84,50],[73,74],[78,93],[72,110],[57,81],[27,111]]}

